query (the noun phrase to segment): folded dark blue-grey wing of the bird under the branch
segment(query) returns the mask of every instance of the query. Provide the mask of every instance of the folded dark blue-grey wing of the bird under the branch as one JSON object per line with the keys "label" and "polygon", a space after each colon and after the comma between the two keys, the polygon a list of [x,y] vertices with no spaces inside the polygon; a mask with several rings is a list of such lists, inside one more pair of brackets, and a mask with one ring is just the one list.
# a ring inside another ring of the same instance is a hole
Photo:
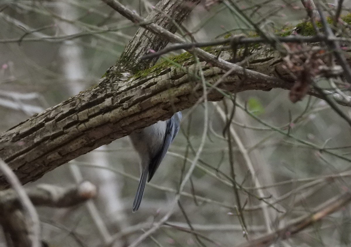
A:
{"label": "folded dark blue-grey wing of the bird under the branch", "polygon": [[147,182],[150,182],[151,178],[153,177],[153,175],[155,174],[155,171],[157,170],[157,168],[159,167],[161,161],[163,160],[163,158],[165,157],[168,148],[170,147],[173,139],[174,139],[174,115],[169,119],[167,126],[166,126],[166,132],[165,132],[165,138],[163,141],[163,145],[160,149],[160,151],[157,152],[157,154],[155,155],[155,157],[153,157],[150,161],[150,165],[149,165],[149,178],[147,180]]}

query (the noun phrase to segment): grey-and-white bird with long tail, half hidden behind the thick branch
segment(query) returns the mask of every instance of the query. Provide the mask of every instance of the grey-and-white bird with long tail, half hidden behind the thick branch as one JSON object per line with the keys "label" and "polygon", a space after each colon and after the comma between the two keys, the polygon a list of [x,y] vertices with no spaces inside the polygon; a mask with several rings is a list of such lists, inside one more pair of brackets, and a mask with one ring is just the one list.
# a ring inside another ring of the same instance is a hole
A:
{"label": "grey-and-white bird with long tail, half hidden behind the thick branch", "polygon": [[140,180],[133,202],[133,212],[139,209],[143,199],[145,183],[150,182],[176,137],[181,120],[181,112],[176,112],[170,119],[159,121],[139,132],[129,135],[134,149],[140,158]]}

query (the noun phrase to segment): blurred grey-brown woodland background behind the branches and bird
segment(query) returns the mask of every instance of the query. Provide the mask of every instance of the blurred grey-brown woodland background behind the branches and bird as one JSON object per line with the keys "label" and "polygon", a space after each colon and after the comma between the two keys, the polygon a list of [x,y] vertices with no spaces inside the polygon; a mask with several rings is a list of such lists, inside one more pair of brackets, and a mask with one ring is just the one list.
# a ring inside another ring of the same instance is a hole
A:
{"label": "blurred grey-brown woodland background behind the branches and bird", "polygon": [[[143,17],[157,3],[120,2]],[[203,1],[183,24],[197,41],[249,34],[253,28],[230,2]],[[235,2],[272,32],[307,16],[301,1]],[[332,13],[333,5],[321,4]],[[97,84],[138,29],[101,1],[1,0],[0,9],[1,131]],[[293,104],[288,95],[246,91],[236,95],[236,107],[225,100],[183,111],[181,130],[136,213],[139,159],[128,137],[26,184],[89,180],[99,188],[94,200],[77,207],[38,208],[43,238],[57,247],[128,246],[172,210],[202,146],[171,217],[140,246],[236,246],[246,241],[243,219],[253,238],[308,214],[349,189],[350,127],[323,100],[306,96]],[[350,108],[341,108],[350,116]],[[232,169],[242,186],[238,193]],[[244,206],[240,212],[236,194]],[[350,246],[350,220],[346,207],[276,246]]]}

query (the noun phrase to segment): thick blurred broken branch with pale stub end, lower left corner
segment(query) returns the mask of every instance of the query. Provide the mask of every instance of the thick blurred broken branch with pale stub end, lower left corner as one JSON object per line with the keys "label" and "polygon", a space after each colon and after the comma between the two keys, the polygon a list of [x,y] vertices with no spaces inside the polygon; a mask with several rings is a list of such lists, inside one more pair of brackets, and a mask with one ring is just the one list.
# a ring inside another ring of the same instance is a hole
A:
{"label": "thick blurred broken branch with pale stub end, lower left corner", "polygon": [[[35,206],[56,208],[75,206],[96,194],[96,187],[87,181],[70,188],[40,184],[33,188],[22,190],[22,193],[25,193],[28,200]],[[28,224],[28,219],[21,212],[24,208],[22,204],[15,189],[0,191],[0,224],[3,226],[9,247],[33,246],[33,241],[31,240],[32,230]],[[39,246],[41,246],[41,241]]]}

